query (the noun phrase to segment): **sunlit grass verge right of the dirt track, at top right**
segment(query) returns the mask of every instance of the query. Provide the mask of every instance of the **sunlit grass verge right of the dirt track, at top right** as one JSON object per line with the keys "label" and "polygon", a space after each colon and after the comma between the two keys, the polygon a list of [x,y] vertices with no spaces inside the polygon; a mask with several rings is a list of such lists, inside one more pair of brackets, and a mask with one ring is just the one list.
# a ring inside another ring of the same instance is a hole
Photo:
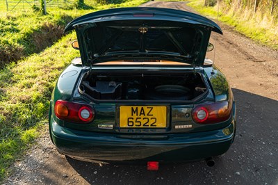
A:
{"label": "sunlit grass verge right of the dirt track, at top right", "polygon": [[278,22],[273,17],[264,15],[259,11],[254,17],[252,10],[235,10],[233,8],[223,12],[221,7],[218,13],[218,6],[206,7],[202,0],[191,0],[188,6],[207,17],[218,18],[221,22],[233,26],[236,31],[256,42],[267,45],[272,49],[278,49]]}

